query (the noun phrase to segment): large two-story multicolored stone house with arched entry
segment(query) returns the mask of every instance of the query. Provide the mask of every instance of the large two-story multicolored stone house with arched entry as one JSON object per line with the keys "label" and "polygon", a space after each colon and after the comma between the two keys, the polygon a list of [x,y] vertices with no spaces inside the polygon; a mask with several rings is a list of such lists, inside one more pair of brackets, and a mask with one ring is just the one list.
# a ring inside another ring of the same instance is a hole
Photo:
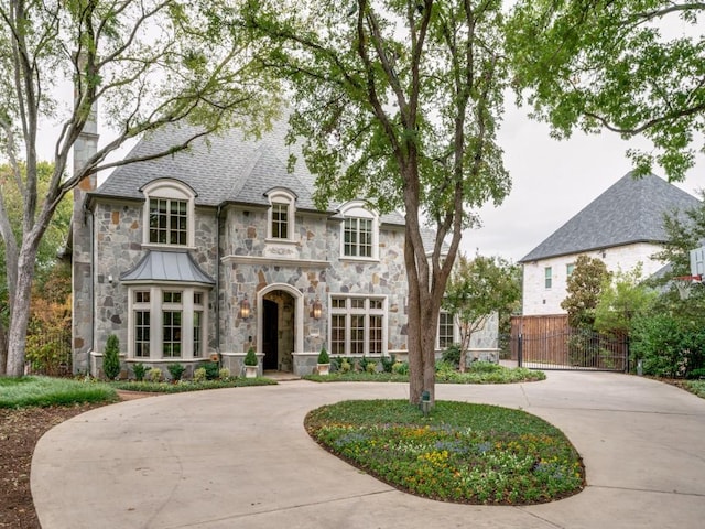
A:
{"label": "large two-story multicolored stone house with arched entry", "polygon": [[[130,158],[189,132],[160,131]],[[288,171],[284,133],[282,123],[257,141],[232,130],[82,186],[75,370],[100,374],[110,334],[128,373],[135,363],[191,373],[217,356],[237,375],[250,346],[261,369],[297,375],[312,373],[324,345],[334,356],[405,357],[403,216],[364,201],[318,210],[303,161]],[[438,349],[454,342],[442,314]],[[475,347],[497,350],[496,324]]]}

